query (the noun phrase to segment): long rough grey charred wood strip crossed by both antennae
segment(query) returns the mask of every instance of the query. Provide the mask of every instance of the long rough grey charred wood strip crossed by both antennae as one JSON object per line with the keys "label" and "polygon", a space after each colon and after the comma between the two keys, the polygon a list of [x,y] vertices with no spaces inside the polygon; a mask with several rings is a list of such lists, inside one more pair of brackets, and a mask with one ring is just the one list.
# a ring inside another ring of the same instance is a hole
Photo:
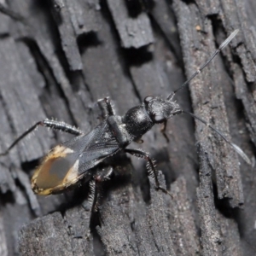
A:
{"label": "long rough grey charred wood strip crossed by both antennae", "polygon": [[[189,77],[197,67],[207,61],[209,53],[213,53],[215,50],[212,44],[212,22],[199,15],[200,10],[195,4],[187,5],[180,1],[174,1],[174,9],[179,19],[179,29],[183,30],[181,43],[184,45],[184,62]],[[206,32],[207,36],[200,31],[197,32],[196,26],[200,26],[201,31]],[[201,75],[191,81],[191,97],[195,113],[207,122],[212,122],[212,125],[230,139],[221,81],[221,73],[224,71],[217,66],[217,62],[218,58],[212,61]],[[198,122],[196,122],[196,138],[204,143],[208,141],[208,160],[212,168],[216,170],[218,197],[230,198],[230,204],[233,207],[239,207],[243,204],[244,199],[236,154],[230,150],[227,143],[216,136],[215,132],[212,133],[206,125]]]}

